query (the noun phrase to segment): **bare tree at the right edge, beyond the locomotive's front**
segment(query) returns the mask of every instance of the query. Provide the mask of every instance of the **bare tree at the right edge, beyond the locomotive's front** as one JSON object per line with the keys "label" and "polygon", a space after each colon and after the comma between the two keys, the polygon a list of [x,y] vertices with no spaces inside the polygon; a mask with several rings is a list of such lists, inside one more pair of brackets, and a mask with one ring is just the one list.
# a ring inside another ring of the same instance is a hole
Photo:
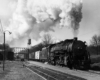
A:
{"label": "bare tree at the right edge, beyond the locomotive's front", "polygon": [[97,55],[99,53],[99,46],[100,46],[100,36],[94,35],[91,39],[91,45],[96,47]]}

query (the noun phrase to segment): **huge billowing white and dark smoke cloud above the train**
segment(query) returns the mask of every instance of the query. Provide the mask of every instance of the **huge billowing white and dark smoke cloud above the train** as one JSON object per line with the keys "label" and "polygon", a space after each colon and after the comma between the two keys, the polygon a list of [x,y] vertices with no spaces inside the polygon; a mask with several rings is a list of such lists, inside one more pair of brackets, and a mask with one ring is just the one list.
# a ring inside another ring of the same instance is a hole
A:
{"label": "huge billowing white and dark smoke cloud above the train", "polygon": [[31,37],[38,39],[42,31],[52,27],[71,27],[77,34],[82,18],[82,0],[18,0],[8,29],[13,33],[10,41]]}

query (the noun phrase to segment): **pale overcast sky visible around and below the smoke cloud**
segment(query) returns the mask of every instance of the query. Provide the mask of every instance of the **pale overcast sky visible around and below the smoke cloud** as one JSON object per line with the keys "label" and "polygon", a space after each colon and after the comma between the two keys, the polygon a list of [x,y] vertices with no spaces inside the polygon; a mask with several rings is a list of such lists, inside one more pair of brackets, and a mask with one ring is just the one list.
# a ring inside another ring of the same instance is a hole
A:
{"label": "pale overcast sky visible around and below the smoke cloud", "polygon": [[[17,7],[17,0],[0,0],[0,19],[2,21],[4,29],[9,26],[10,20],[12,18],[13,13],[16,10],[16,7]],[[100,0],[83,0],[82,16],[83,17],[80,22],[80,28],[77,37],[89,43],[93,35],[100,34]],[[54,32],[49,31],[49,33],[56,40],[73,38],[73,33],[71,28],[54,27],[53,29],[55,31]],[[42,35],[43,33],[44,32],[41,32],[40,35]],[[27,38],[25,38],[24,36],[23,39],[21,40],[16,39],[12,43],[17,44],[18,41],[19,44],[23,42],[27,43]],[[40,39],[38,39],[37,41],[39,42]],[[37,41],[33,40],[33,45],[36,44]],[[0,32],[0,43],[3,43],[3,35],[1,32]]]}

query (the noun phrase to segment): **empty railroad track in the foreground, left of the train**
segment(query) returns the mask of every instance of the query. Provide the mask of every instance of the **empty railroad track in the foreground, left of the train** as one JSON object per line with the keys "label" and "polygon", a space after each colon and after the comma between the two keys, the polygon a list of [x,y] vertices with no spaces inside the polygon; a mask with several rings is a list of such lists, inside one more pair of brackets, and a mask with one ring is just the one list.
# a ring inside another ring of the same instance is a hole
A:
{"label": "empty railroad track in the foreground, left of the train", "polygon": [[43,76],[47,80],[86,80],[83,78],[79,78],[76,76],[72,76],[69,74],[65,74],[59,71],[43,68],[43,67],[37,67],[37,66],[29,66],[31,70],[38,73],[39,75]]}

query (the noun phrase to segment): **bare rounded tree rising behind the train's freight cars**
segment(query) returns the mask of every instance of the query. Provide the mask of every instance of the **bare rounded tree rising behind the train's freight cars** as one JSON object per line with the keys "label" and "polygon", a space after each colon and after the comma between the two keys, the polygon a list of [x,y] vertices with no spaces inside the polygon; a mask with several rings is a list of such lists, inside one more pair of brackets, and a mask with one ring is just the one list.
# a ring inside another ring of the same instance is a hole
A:
{"label": "bare rounded tree rising behind the train's freight cars", "polygon": [[42,42],[44,46],[48,46],[49,44],[53,43],[52,37],[50,34],[44,34],[42,38]]}

